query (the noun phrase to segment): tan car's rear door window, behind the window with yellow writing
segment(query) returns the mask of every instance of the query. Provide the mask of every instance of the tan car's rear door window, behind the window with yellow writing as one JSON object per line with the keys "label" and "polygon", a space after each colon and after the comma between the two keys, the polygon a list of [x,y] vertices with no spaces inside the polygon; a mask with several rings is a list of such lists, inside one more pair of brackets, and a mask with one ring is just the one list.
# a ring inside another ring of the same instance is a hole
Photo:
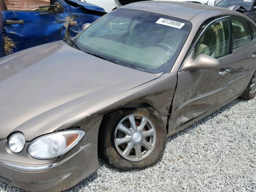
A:
{"label": "tan car's rear door window, behind the window with yellow writing", "polygon": [[233,27],[233,49],[238,48],[252,40],[250,28],[246,20],[231,17]]}

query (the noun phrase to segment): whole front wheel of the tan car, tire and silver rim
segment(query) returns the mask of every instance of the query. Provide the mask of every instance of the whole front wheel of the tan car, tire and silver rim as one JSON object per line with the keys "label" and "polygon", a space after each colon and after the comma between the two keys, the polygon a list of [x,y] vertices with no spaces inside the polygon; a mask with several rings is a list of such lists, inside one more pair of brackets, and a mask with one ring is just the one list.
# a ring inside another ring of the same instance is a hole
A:
{"label": "whole front wheel of the tan car, tire and silver rim", "polygon": [[104,116],[99,147],[104,160],[121,170],[156,163],[166,146],[166,128],[152,108],[121,109]]}

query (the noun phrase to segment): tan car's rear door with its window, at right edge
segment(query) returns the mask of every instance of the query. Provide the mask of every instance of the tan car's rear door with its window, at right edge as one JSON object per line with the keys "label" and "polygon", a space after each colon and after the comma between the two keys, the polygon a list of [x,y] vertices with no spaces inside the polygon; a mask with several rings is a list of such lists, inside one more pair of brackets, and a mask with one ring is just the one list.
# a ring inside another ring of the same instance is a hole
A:
{"label": "tan car's rear door with its window, at right edge", "polygon": [[[230,95],[236,96],[244,92],[256,70],[256,37],[252,36],[249,23],[244,18],[232,16],[231,22],[233,51],[229,58],[231,71],[226,76],[230,79]],[[251,25],[251,28],[255,29],[255,26]]]}

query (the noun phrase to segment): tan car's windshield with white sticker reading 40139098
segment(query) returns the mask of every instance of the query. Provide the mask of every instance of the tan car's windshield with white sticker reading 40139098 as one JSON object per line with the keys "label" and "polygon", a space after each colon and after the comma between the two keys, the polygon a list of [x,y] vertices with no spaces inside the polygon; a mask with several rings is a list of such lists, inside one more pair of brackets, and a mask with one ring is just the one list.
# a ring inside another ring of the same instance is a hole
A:
{"label": "tan car's windshield with white sticker reading 40139098", "polygon": [[116,64],[151,73],[169,72],[190,30],[187,21],[119,9],[73,39],[74,47]]}

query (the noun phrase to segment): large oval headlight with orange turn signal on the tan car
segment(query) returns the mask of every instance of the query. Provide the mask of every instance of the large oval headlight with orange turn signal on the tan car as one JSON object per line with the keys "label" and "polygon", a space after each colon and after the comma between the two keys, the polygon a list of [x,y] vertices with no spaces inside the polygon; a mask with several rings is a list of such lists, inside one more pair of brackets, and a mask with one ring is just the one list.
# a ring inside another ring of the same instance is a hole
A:
{"label": "large oval headlight with orange turn signal on the tan car", "polygon": [[84,136],[82,130],[67,130],[37,138],[28,146],[28,154],[36,159],[51,159],[72,149]]}

